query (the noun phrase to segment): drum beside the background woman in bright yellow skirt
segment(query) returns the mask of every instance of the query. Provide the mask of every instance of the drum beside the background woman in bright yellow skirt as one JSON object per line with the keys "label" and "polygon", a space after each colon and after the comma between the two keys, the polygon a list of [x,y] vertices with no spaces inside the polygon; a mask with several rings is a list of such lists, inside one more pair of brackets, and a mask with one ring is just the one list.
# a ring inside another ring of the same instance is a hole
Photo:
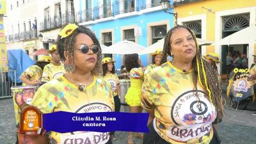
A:
{"label": "drum beside the background woman in bright yellow skirt", "polygon": [[131,85],[131,81],[130,79],[120,79],[120,101],[122,105],[127,105],[127,103],[125,102],[125,95],[127,93],[128,88]]}

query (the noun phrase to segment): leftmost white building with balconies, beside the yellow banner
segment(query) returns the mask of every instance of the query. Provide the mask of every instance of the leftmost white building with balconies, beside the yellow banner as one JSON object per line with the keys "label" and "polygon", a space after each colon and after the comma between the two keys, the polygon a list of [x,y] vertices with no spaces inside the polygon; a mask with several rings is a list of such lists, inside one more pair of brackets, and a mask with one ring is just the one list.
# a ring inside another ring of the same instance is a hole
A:
{"label": "leftmost white building with balconies, beside the yellow banner", "polygon": [[[24,49],[29,55],[40,49],[38,39],[38,1],[8,0],[6,1],[6,32],[7,49]],[[36,56],[31,56],[36,60]]]}

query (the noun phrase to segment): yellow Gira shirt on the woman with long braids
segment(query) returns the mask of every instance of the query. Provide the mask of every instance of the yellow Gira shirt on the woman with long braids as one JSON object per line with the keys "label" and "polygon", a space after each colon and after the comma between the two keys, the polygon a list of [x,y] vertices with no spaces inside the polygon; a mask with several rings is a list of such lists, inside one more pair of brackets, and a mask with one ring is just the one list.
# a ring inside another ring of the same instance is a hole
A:
{"label": "yellow Gira shirt on the woman with long braids", "polygon": [[143,83],[141,106],[154,109],[154,129],[172,144],[205,144],[213,136],[216,111],[199,83],[196,100],[192,73],[166,62],[147,74]]}

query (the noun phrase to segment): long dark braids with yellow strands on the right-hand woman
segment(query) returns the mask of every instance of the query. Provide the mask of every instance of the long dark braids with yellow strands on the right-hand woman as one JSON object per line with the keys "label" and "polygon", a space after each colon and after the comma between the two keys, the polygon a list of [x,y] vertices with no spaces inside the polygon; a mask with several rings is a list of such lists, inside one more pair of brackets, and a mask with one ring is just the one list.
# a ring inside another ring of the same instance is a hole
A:
{"label": "long dark braids with yellow strands on the right-hand woman", "polygon": [[186,26],[177,25],[168,31],[167,35],[164,38],[163,58],[161,60],[161,64],[166,62],[166,58],[168,55],[169,56],[171,55],[170,51],[172,47],[170,44],[170,38],[173,32],[179,28],[187,29],[193,36],[193,39],[195,40],[195,43],[196,43],[196,50],[197,50],[196,56],[192,60],[193,85],[195,86],[194,87],[195,95],[198,95],[197,83],[199,80],[200,83],[202,83],[202,86],[204,87],[205,97],[210,102],[212,102],[212,104],[216,108],[217,122],[219,122],[224,115],[223,103],[225,101],[224,99],[222,99],[222,95],[221,95],[221,84],[219,80],[218,71],[214,70],[214,68],[202,58],[201,52],[198,51],[196,36],[193,33],[193,31],[191,31],[191,29],[187,28]]}

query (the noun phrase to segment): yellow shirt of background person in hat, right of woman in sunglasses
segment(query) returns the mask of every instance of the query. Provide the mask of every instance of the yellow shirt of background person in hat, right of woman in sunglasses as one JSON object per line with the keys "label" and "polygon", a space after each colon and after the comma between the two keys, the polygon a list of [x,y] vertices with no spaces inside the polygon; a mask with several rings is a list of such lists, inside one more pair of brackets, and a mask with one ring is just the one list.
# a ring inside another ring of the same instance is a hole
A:
{"label": "yellow shirt of background person in hat, right of woman in sunglasses", "polygon": [[119,84],[118,76],[116,74],[106,74],[106,76],[104,76],[103,79],[105,81],[108,81],[108,83],[111,85],[113,95],[116,96],[118,94],[117,93],[117,85]]}

